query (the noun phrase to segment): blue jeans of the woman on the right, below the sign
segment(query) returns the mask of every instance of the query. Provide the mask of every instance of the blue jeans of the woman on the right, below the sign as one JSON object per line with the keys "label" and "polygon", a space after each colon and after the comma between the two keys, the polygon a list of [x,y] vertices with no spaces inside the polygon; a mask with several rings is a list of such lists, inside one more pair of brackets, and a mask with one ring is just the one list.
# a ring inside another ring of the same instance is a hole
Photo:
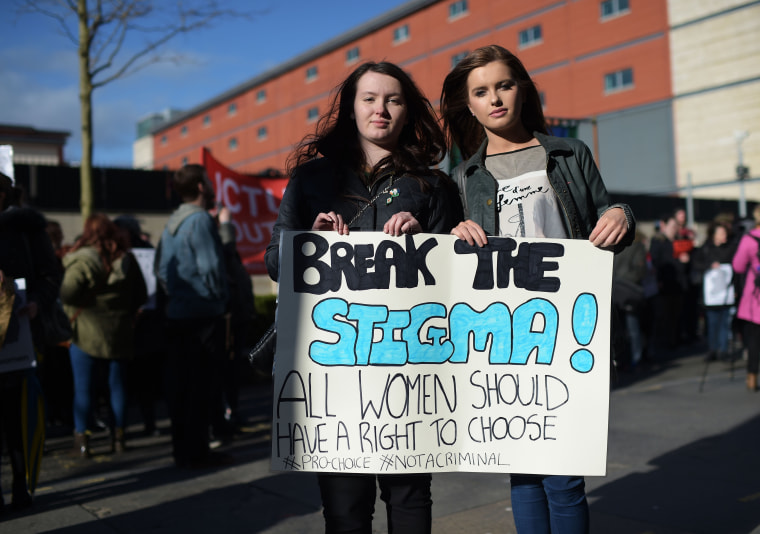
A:
{"label": "blue jeans of the woman on the right, below the sign", "polygon": [[519,534],[586,534],[583,477],[512,475],[512,513]]}

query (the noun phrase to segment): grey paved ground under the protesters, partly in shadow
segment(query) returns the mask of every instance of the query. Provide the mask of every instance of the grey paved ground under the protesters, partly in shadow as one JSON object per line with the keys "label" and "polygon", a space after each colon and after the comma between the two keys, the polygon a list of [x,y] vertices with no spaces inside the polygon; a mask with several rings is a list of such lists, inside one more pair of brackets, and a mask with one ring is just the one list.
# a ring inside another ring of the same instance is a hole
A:
{"label": "grey paved ground under the protesters, partly in shadow", "polygon": [[[594,533],[760,534],[760,393],[742,362],[706,367],[698,349],[615,381],[608,473],[587,479]],[[269,471],[270,396],[266,383],[245,389],[248,425],[219,469],[175,468],[165,418],[157,437],[130,426],[120,456],[96,435],[85,463],[67,457],[68,434],[51,436],[33,508],[1,517],[0,532],[321,533],[314,476]],[[515,532],[506,476],[436,475],[433,499],[435,533]]]}

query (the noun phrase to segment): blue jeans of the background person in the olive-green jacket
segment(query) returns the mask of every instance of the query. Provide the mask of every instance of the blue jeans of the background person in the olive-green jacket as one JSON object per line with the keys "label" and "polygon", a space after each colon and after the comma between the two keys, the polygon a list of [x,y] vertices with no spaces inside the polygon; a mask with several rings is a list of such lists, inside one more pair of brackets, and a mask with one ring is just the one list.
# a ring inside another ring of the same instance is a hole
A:
{"label": "blue jeans of the background person in the olive-green jacket", "polygon": [[92,409],[92,376],[96,365],[108,367],[108,389],[111,392],[111,411],[116,428],[124,428],[126,394],[124,393],[124,365],[121,360],[93,358],[74,343],[69,348],[71,372],[74,375],[74,431],[87,430],[87,419]]}

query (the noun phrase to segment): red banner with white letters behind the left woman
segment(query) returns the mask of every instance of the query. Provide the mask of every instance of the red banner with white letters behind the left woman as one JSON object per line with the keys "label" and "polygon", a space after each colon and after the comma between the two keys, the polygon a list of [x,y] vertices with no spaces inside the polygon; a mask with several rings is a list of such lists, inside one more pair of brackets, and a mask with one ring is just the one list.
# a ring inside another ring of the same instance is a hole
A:
{"label": "red banner with white letters behind the left woman", "polygon": [[243,265],[251,274],[266,274],[264,252],[272,238],[287,178],[240,174],[217,161],[206,148],[201,162],[214,184],[217,202],[232,214]]}

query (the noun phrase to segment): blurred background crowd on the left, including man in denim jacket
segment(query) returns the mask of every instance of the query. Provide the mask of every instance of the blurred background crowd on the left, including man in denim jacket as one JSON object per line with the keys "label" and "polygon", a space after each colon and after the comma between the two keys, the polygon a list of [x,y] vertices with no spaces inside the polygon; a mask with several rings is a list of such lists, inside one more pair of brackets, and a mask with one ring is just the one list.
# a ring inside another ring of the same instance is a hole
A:
{"label": "blurred background crowd on the left, including man in denim jacket", "polygon": [[[11,508],[32,504],[22,439],[29,381],[44,397],[42,424],[71,428],[72,455],[81,461],[93,456],[97,430],[110,435],[111,453],[124,452],[129,398],[146,435],[157,433],[156,405],[166,401],[182,467],[222,461],[209,444],[231,438],[244,423],[238,370],[256,319],[251,278],[235,248],[230,211],[214,202],[203,167],[185,166],[174,187],[183,203],[157,248],[134,217],[103,213],[90,215],[65,245],[61,226],[23,206],[20,188],[0,173],[0,339],[25,317],[35,355],[31,368],[0,372]],[[151,294],[150,278],[158,280]],[[13,304],[16,279],[25,281],[24,306]],[[0,513],[5,506],[0,493]]]}

